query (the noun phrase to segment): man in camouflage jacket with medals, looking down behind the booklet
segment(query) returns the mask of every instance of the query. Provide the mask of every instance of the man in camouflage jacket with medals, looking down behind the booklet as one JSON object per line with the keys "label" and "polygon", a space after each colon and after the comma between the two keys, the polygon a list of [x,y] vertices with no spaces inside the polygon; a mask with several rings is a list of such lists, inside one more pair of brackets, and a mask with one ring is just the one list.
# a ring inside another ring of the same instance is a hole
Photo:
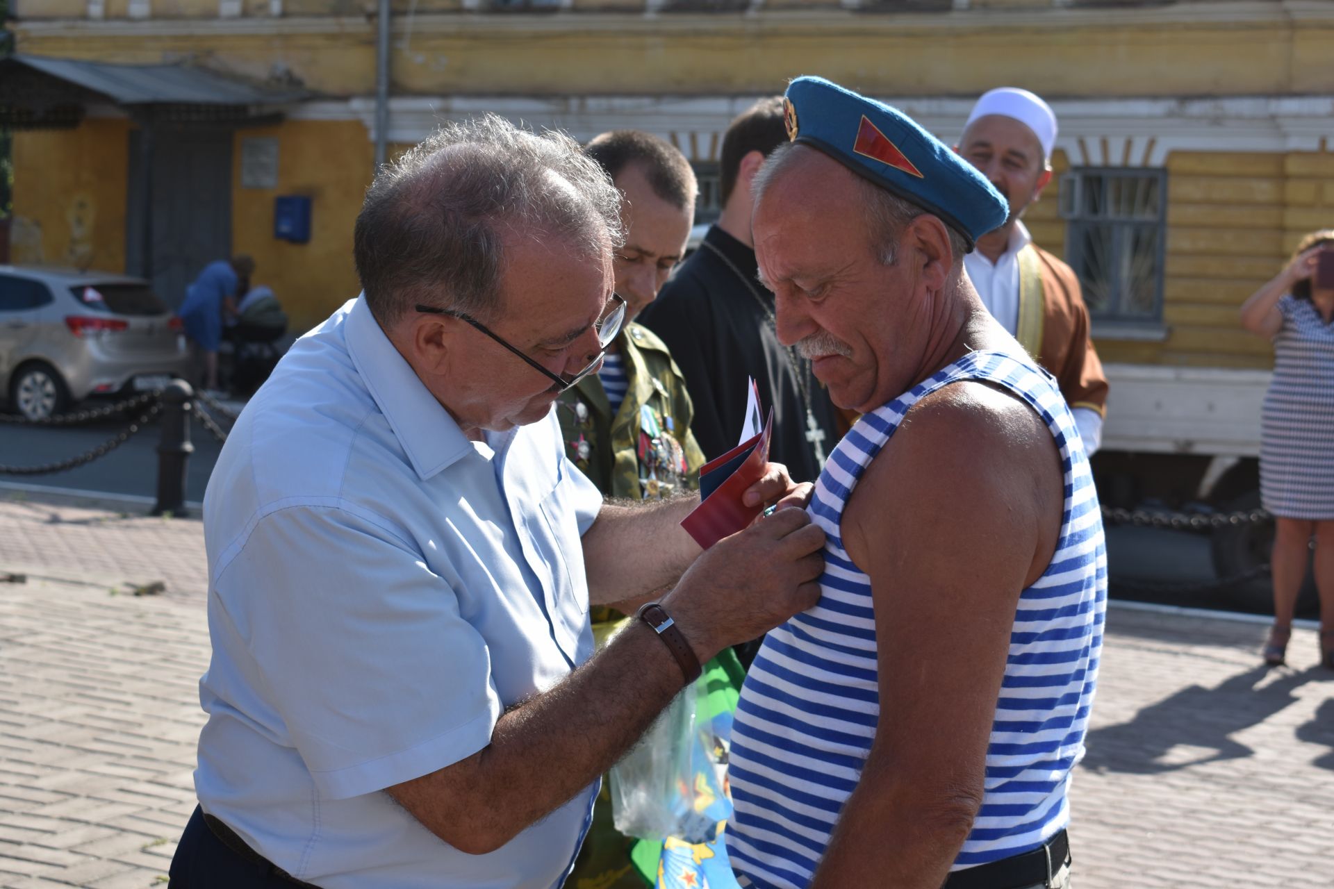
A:
{"label": "man in camouflage jacket with medals, looking down behind the booklet", "polygon": [[[638,129],[595,136],[584,152],[620,192],[626,243],[615,252],[615,292],[626,323],[607,345],[602,369],[556,400],[566,456],[604,497],[659,500],[698,488],[704,464],[690,431],[694,411],[686,381],[663,341],[634,319],[658,296],[686,252],[695,213],[695,171],[678,148]],[[623,616],[595,606],[594,634],[611,632]],[[724,657],[734,657],[730,650]],[[706,665],[711,670],[715,665]],[[608,782],[598,794],[592,826],[579,852],[570,889],[642,889],[631,861],[634,837],[612,822]]]}

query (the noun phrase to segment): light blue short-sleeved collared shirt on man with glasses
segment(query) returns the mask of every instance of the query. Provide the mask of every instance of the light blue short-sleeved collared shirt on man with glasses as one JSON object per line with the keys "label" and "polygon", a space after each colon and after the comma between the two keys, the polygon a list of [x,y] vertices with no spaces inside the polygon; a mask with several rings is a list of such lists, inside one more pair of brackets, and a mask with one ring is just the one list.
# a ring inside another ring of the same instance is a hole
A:
{"label": "light blue short-sleeved collared shirt on man with glasses", "polygon": [[592,654],[580,536],[600,505],[555,413],[471,441],[364,299],[335,312],[241,413],[204,497],[204,810],[327,889],[559,886],[596,784],[484,856],[383,789],[476,753]]}

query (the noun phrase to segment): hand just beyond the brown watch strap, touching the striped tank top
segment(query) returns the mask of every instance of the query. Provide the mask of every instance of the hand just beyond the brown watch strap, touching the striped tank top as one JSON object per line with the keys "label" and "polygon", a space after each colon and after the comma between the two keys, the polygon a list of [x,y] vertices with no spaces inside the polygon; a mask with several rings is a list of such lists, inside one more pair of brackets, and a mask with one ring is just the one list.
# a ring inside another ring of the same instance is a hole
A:
{"label": "hand just beyond the brown watch strap, touching the striped tank top", "polygon": [[[802,485],[791,485],[787,472],[778,469],[787,482],[782,489],[786,497],[799,496]],[[778,490],[775,480],[768,490]],[[815,605],[820,596],[815,580],[824,570],[823,545],[824,532],[804,510],[763,516],[696,558],[662,600],[663,608],[704,662]]]}

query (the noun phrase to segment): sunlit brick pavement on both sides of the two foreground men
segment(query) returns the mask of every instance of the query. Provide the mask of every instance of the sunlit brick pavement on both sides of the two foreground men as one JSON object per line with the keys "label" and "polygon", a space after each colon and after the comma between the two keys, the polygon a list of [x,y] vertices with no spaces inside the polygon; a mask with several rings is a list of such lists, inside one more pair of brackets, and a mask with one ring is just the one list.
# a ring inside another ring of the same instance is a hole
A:
{"label": "sunlit brick pavement on both sides of the two foreground men", "polygon": [[[200,525],[5,497],[0,572],[33,577],[0,584],[0,886],[161,885],[203,722]],[[1310,630],[1257,669],[1263,632],[1111,612],[1077,889],[1334,886],[1334,673]]]}

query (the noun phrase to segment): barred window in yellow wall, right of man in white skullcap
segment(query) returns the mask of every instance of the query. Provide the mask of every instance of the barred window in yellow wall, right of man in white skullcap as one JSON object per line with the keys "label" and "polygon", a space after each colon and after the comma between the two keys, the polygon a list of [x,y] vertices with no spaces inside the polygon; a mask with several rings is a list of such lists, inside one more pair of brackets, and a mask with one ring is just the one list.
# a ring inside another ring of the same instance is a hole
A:
{"label": "barred window in yellow wall, right of man in white skullcap", "polygon": [[1094,320],[1161,323],[1167,171],[1078,167],[1061,180],[1061,215]]}

